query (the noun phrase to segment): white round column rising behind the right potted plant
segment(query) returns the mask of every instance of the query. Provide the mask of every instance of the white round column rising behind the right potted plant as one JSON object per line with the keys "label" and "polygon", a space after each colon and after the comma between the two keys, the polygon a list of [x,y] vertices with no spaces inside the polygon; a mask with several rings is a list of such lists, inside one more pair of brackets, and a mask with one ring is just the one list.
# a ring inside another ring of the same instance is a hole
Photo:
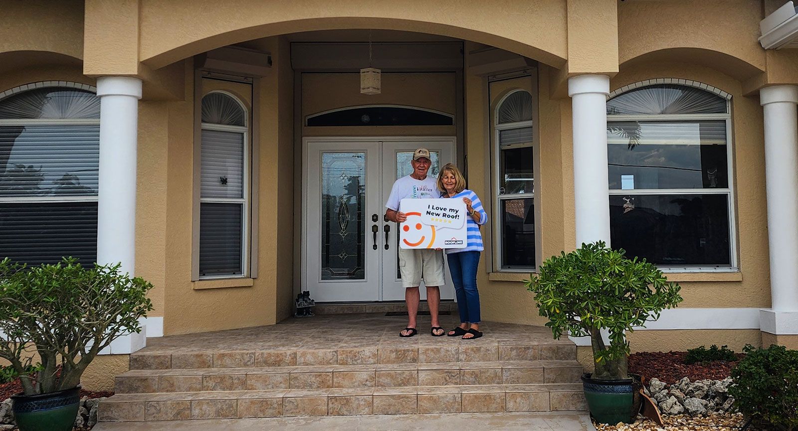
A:
{"label": "white round column rising behind the right potted plant", "polygon": [[574,128],[576,246],[610,245],[610,194],[606,171],[606,96],[610,77],[579,75],[568,79]]}

